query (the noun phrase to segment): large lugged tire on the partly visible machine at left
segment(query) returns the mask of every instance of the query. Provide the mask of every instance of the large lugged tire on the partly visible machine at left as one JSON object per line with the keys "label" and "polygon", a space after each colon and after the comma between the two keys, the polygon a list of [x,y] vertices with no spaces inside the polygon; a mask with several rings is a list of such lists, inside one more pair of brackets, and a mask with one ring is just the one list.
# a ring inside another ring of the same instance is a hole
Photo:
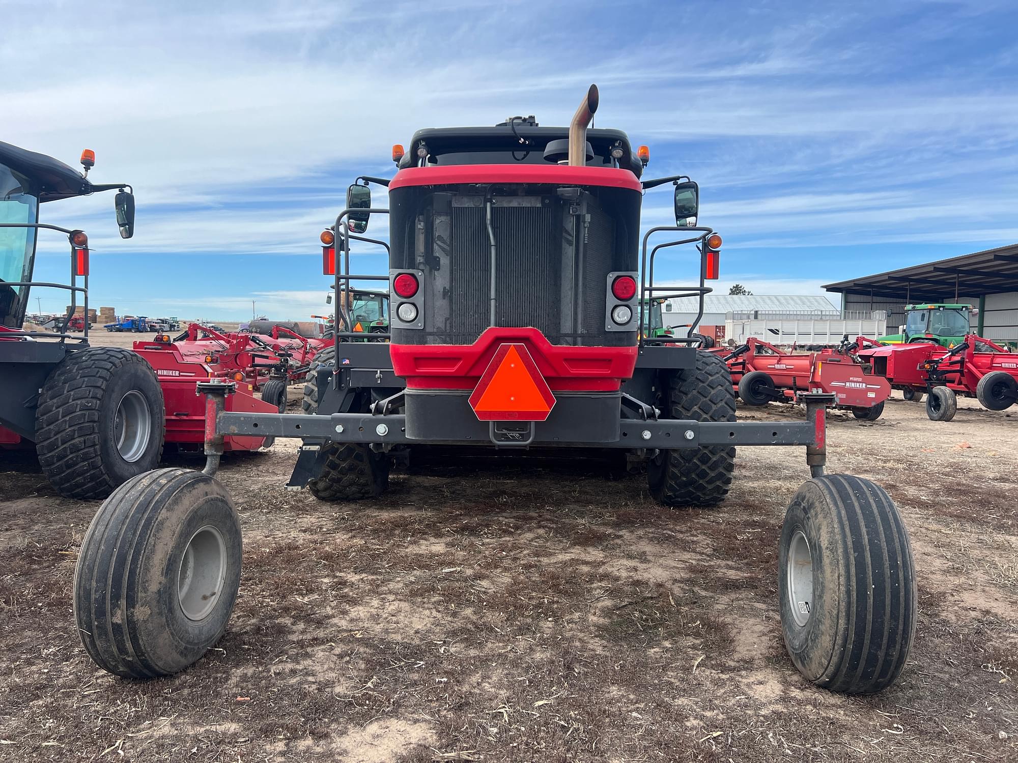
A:
{"label": "large lugged tire on the partly visible machine at left", "polygon": [[155,469],[166,413],[152,366],[122,347],[67,353],[43,386],[36,451],[61,495],[103,498]]}

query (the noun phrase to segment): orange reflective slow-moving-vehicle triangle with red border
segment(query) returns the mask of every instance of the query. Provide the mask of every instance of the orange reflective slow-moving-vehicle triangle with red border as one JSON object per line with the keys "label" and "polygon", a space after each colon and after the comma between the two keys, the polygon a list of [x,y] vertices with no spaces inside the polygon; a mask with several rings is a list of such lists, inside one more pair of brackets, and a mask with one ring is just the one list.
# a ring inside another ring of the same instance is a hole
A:
{"label": "orange reflective slow-moving-vehicle triangle with red border", "polygon": [[501,345],[470,395],[482,421],[544,421],[554,405],[551,388],[523,345]]}

